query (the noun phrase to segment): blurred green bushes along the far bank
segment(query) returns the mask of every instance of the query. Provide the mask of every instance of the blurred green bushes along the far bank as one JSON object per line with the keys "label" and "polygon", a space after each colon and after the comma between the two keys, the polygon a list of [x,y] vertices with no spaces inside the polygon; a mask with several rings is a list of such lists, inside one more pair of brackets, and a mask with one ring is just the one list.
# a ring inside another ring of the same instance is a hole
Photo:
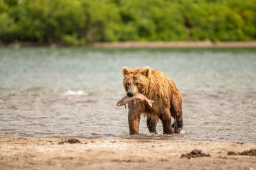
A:
{"label": "blurred green bushes along the far bank", "polygon": [[0,42],[256,39],[256,0],[0,0]]}

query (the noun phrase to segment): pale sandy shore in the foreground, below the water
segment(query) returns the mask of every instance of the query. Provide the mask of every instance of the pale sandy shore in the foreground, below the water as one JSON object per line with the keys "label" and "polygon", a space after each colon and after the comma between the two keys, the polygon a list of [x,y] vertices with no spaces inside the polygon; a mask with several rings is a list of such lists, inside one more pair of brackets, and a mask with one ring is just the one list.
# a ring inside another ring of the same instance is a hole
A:
{"label": "pale sandy shore in the foreground, below the water", "polygon": [[[193,149],[210,157],[181,158]],[[0,137],[1,169],[250,169],[256,143]]]}

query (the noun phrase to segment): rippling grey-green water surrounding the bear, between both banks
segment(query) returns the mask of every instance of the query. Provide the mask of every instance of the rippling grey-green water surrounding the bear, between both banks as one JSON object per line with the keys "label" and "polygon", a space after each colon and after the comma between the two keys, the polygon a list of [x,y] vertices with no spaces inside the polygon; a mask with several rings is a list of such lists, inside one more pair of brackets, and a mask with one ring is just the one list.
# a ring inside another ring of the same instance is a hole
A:
{"label": "rippling grey-green water surrounding the bear, between both banks", "polygon": [[[180,135],[129,136],[122,67],[149,66],[183,96]],[[256,49],[0,47],[0,136],[256,142]]]}

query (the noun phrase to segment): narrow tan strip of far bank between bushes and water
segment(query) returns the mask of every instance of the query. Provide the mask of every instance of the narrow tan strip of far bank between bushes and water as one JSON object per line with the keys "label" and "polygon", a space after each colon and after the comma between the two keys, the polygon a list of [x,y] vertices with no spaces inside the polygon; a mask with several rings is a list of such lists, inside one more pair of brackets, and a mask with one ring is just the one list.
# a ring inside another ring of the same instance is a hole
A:
{"label": "narrow tan strip of far bank between bushes and water", "polygon": [[[11,44],[0,44],[4,47],[66,47],[65,45],[57,43],[38,43],[38,42],[17,42]],[[256,41],[238,41],[238,42],[210,42],[210,41],[196,41],[196,42],[95,42],[87,44],[82,47],[106,47],[106,48],[203,48],[203,47],[223,47],[223,48],[237,48],[248,47],[256,48]]]}

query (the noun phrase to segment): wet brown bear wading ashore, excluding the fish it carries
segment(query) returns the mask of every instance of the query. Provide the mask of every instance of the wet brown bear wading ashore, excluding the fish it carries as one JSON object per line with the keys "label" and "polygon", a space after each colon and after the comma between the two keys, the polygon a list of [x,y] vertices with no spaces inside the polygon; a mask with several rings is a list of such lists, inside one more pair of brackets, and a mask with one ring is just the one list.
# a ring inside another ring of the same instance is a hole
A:
{"label": "wet brown bear wading ashore, excluding the fish it carries", "polygon": [[[149,132],[156,133],[156,124],[159,119],[163,124],[164,134],[181,132],[183,128],[182,97],[174,81],[164,73],[150,67],[128,69],[122,68],[124,75],[123,85],[127,96],[137,93],[154,101],[150,107],[146,101],[137,100],[128,103],[129,134],[139,134],[139,120],[142,114],[146,116],[146,125]],[[171,117],[174,123],[171,125]]]}

